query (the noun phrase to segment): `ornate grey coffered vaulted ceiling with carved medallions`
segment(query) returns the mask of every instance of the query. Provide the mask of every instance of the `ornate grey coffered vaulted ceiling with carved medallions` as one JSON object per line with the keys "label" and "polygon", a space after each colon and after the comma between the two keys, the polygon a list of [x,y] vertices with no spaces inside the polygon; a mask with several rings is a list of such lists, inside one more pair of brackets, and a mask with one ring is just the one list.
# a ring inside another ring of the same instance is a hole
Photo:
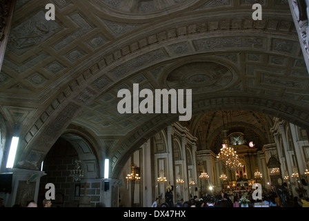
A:
{"label": "ornate grey coffered vaulted ceiling with carved medallions", "polygon": [[[309,76],[288,1],[17,1],[0,73],[0,113],[20,125],[17,166],[36,169],[65,131],[123,159],[172,114],[117,112],[122,88],[191,88],[195,115],[255,111],[309,128]],[[253,21],[261,3],[263,20]],[[193,119],[192,119],[193,120]],[[196,130],[196,128],[195,128]]]}

